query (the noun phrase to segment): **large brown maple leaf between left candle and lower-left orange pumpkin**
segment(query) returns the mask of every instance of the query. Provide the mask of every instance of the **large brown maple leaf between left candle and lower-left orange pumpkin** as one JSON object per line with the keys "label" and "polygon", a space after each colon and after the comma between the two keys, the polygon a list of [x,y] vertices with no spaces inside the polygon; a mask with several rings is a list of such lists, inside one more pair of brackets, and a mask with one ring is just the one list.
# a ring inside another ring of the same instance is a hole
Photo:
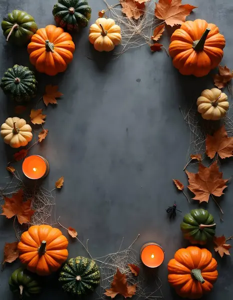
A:
{"label": "large brown maple leaf between left candle and lower-left orange pumpkin", "polygon": [[7,218],[17,216],[18,222],[28,223],[34,210],[31,209],[31,199],[23,201],[23,190],[19,189],[11,198],[4,197],[5,204],[1,205],[3,212]]}

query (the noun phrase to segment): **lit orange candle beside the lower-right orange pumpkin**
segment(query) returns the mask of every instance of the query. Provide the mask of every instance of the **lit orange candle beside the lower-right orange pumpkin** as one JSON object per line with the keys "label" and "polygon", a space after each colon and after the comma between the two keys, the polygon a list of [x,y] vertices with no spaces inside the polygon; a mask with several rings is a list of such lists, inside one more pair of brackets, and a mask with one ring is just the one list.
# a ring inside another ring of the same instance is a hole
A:
{"label": "lit orange candle beside the lower-right orange pumpkin", "polygon": [[164,252],[161,246],[155,242],[148,242],[141,247],[140,258],[144,265],[157,267],[164,260]]}

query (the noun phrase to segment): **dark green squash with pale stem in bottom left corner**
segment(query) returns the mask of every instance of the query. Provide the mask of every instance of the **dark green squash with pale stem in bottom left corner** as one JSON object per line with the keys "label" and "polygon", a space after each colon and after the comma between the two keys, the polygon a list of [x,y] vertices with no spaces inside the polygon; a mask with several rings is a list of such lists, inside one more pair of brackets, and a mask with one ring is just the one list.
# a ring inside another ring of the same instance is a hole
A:
{"label": "dark green squash with pale stem in bottom left corner", "polygon": [[32,275],[22,267],[16,269],[9,277],[9,289],[18,293],[23,299],[41,291],[38,281],[34,279],[34,274]]}

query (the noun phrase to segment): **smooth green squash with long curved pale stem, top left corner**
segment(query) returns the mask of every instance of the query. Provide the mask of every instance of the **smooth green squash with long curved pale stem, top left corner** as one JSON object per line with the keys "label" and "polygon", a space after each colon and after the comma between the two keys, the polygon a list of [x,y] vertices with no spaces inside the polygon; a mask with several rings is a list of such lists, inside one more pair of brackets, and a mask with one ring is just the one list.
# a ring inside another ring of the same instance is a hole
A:
{"label": "smooth green squash with long curved pale stem, top left corner", "polygon": [[8,13],[1,22],[1,29],[10,41],[18,46],[26,44],[38,29],[33,16],[18,9]]}

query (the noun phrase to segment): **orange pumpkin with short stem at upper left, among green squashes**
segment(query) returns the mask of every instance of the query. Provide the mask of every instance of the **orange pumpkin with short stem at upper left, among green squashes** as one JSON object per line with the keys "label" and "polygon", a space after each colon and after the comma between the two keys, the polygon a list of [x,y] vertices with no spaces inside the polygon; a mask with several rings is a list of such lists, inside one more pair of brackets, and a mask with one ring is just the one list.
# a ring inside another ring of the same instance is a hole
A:
{"label": "orange pumpkin with short stem at upper left, among green squashes", "polygon": [[74,49],[71,35],[54,25],[38,29],[27,46],[30,62],[36,70],[51,76],[66,69],[73,59]]}

